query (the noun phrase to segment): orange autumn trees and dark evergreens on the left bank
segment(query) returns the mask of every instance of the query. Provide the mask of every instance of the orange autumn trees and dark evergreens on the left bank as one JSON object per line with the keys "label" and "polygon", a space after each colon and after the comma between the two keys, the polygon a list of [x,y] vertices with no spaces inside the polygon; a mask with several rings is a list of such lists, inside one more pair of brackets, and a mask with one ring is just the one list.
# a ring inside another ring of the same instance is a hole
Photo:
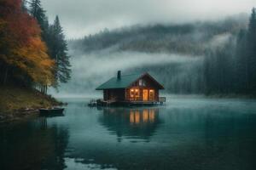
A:
{"label": "orange autumn trees and dark evergreens on the left bank", "polygon": [[67,42],[56,16],[49,24],[40,0],[0,1],[0,85],[58,86],[70,78]]}

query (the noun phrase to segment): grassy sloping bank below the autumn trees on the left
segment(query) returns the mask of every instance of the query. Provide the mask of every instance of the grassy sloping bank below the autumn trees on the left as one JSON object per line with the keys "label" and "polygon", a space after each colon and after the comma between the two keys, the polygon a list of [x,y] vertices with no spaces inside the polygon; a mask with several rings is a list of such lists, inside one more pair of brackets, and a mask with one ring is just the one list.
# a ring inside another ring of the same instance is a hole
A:
{"label": "grassy sloping bank below the autumn trees on the left", "polygon": [[38,108],[61,105],[30,88],[0,87],[0,122],[37,113]]}

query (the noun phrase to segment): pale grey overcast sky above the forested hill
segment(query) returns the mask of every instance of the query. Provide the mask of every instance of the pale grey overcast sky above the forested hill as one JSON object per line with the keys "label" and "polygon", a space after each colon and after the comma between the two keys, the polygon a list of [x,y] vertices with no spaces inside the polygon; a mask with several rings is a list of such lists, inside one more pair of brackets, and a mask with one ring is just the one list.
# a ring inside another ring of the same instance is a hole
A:
{"label": "pale grey overcast sky above the forested hill", "polygon": [[41,0],[49,20],[58,14],[67,38],[104,28],[218,20],[250,13],[256,0]]}

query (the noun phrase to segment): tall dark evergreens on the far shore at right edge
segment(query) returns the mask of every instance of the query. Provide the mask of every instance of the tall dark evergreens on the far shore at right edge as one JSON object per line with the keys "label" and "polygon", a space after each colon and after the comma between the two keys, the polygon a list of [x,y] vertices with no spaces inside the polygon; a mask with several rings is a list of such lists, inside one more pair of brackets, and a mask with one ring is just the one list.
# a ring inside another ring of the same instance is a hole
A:
{"label": "tall dark evergreens on the far shore at right edge", "polygon": [[207,51],[204,79],[206,94],[256,94],[256,8],[247,29]]}

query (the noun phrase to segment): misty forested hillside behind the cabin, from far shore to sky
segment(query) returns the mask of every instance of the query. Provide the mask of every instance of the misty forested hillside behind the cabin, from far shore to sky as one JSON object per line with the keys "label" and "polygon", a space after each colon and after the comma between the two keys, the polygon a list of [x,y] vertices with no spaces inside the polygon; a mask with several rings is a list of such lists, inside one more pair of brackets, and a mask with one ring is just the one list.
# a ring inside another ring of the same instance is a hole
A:
{"label": "misty forested hillside behind the cabin, from far shore to sky", "polygon": [[241,43],[247,41],[249,18],[239,14],[187,24],[106,28],[70,40],[72,79],[59,91],[95,94],[98,85],[121,70],[148,71],[164,84],[166,94],[247,94],[248,82],[241,80],[247,74],[247,64],[241,62],[246,61],[242,53],[247,47]]}

